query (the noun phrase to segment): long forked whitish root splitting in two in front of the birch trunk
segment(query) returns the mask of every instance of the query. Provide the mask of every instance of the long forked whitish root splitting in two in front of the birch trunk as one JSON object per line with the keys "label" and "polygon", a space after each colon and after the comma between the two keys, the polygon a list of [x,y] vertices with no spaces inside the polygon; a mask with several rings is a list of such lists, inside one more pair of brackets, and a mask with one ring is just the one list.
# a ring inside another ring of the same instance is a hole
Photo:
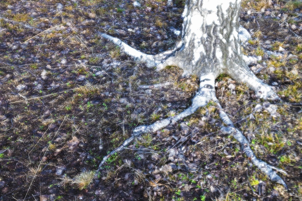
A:
{"label": "long forked whitish root splitting in two in front of the birch trunk", "polygon": [[[233,122],[230,120],[226,112],[221,107],[218,99],[215,95],[215,87],[214,87],[215,77],[213,75],[205,75],[200,77],[200,86],[196,95],[192,99],[192,105],[182,111],[180,114],[169,117],[160,121],[156,121],[151,125],[141,125],[133,129],[132,135],[130,138],[124,141],[122,145],[111,151],[108,155],[106,155],[101,163],[98,166],[97,173],[101,170],[102,166],[106,163],[108,158],[116,152],[123,150],[126,146],[128,146],[135,138],[140,137],[143,133],[154,133],[157,130],[162,129],[163,127],[168,126],[171,123],[177,122],[189,115],[192,115],[198,108],[205,106],[210,100],[214,100],[219,108],[219,115],[222,119],[223,123],[227,125],[227,127],[223,127],[223,132],[232,135],[241,145],[241,149],[246,154],[248,159],[254,164],[257,168],[263,171],[271,181],[275,181],[279,184],[282,184],[286,189],[288,189],[287,185],[283,181],[283,179],[275,172],[273,169],[278,170],[277,168],[268,165],[266,162],[258,159],[252,149],[249,146],[249,142],[246,137],[236,129]],[[283,172],[285,171],[279,170]]]}

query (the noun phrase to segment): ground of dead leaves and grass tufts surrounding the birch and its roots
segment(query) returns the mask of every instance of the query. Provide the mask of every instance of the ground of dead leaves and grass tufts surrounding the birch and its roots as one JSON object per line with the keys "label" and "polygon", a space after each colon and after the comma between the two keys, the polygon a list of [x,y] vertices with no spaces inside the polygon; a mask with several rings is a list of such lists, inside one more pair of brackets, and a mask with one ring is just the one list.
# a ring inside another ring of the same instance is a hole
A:
{"label": "ground of dead leaves and grass tufts surrounding the birch and its roots", "polygon": [[[172,48],[184,1],[0,0],[0,200],[301,200],[302,2],[242,2],[252,71],[283,102],[255,99],[221,75],[217,97],[256,155],[285,170],[289,190],[220,132],[214,104],[111,156],[137,125],[190,105],[196,77],[133,62],[98,31],[143,52]],[[143,85],[168,83],[162,88]]]}

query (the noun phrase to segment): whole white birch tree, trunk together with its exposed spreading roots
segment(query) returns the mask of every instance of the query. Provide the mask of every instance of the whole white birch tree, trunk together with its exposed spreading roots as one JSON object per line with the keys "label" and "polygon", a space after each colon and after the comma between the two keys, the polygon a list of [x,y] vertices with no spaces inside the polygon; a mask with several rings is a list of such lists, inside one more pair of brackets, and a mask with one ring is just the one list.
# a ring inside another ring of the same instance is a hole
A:
{"label": "whole white birch tree, trunk together with its exposed spreading roots", "polygon": [[[240,6],[240,0],[187,0],[182,15],[184,21],[181,40],[174,49],[158,55],[144,54],[120,39],[100,33],[102,37],[124,49],[126,54],[133,56],[136,60],[146,62],[148,67],[155,66],[157,70],[161,70],[165,66],[176,65],[184,70],[185,75],[197,75],[200,86],[189,108],[173,118],[137,127],[133,130],[132,137],[104,157],[99,168],[111,154],[122,150],[136,136],[155,132],[172,122],[179,121],[213,100],[219,108],[220,118],[227,125],[222,128],[223,132],[233,135],[239,141],[243,152],[256,167],[264,171],[272,181],[283,184],[287,188],[281,177],[273,171],[276,168],[256,158],[248,140],[240,130],[234,127],[215,95],[215,78],[224,73],[238,82],[246,83],[251,90],[255,91],[256,97],[279,99],[271,87],[259,80],[248,68],[247,57],[243,55],[239,43]],[[240,33],[243,32],[240,31]]]}

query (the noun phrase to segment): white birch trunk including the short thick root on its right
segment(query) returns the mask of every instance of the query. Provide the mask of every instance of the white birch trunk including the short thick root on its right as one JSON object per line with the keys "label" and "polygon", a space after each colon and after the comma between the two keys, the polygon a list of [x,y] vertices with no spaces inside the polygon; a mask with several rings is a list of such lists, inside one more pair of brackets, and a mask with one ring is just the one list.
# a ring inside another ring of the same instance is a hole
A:
{"label": "white birch trunk including the short thick root on its right", "polygon": [[[269,86],[248,68],[239,43],[240,0],[188,0],[182,17],[181,43],[167,64],[176,64],[185,74],[198,77],[224,73],[246,83],[259,98],[277,99]],[[160,66],[164,67],[164,66]]]}

